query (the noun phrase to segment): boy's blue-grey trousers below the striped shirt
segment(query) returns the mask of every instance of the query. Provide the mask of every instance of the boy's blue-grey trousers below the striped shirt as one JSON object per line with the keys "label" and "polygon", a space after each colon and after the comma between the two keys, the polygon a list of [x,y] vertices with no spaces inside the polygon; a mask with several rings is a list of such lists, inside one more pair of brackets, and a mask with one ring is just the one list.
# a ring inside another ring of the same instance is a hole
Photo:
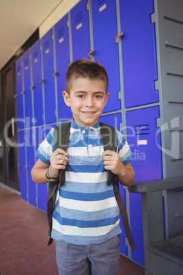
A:
{"label": "boy's blue-grey trousers below the striped shirt", "polygon": [[117,275],[119,244],[120,235],[89,246],[55,240],[59,275]]}

